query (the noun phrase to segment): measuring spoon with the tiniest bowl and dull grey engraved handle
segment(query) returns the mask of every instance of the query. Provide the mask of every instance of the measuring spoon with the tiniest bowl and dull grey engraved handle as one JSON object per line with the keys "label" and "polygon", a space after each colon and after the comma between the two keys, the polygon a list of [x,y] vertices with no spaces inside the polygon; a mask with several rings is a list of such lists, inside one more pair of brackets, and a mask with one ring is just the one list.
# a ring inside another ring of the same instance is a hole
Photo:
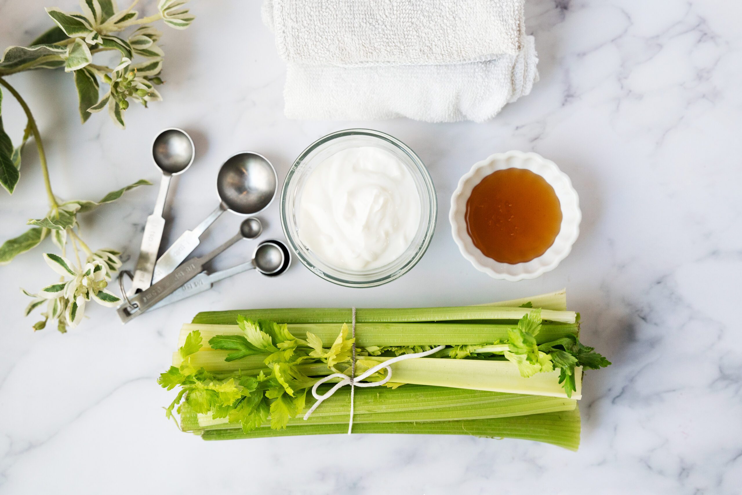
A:
{"label": "measuring spoon with the tiniest bowl and dull grey engraved handle", "polygon": [[137,318],[137,316],[141,315],[147,309],[150,309],[162,301],[162,299],[171,295],[180,286],[191,280],[191,278],[203,272],[206,263],[209,263],[217,255],[220,255],[229,246],[237,243],[238,240],[255,239],[261,232],[263,232],[263,224],[260,223],[260,220],[257,220],[255,217],[246,218],[240,224],[240,232],[234,235],[232,239],[226,241],[226,243],[217,247],[217,249],[199,258],[191,258],[183,263],[182,266],[178,266],[170,275],[152,284],[149,289],[139,292],[133,298],[125,298],[126,302],[116,309],[116,312],[119,313],[119,318],[121,318],[123,323],[127,323],[131,318]]}

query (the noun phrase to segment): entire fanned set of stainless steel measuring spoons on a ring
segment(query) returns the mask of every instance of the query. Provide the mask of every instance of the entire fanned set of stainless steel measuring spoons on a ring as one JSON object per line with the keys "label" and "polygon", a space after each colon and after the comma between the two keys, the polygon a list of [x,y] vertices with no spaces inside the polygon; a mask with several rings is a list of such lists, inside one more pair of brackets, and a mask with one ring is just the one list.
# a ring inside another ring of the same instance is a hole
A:
{"label": "entire fanned set of stainless steel measuring spoons on a ring", "polygon": [[[263,232],[260,220],[249,215],[262,212],[270,205],[278,188],[278,177],[266,157],[253,151],[234,154],[223,163],[217,174],[217,194],[220,199],[217,209],[193,230],[183,232],[157,258],[165,227],[162,212],[171,177],[183,174],[193,163],[193,140],[181,129],[167,128],[154,139],[152,157],[154,164],[162,170],[162,180],[154,212],[145,223],[137,267],[128,292],[124,292],[122,279],[119,278],[125,300],[117,309],[122,322],[126,323],[148,309],[157,309],[204,292],[211,289],[214,282],[237,273],[255,269],[263,275],[275,277],[289,268],[291,254],[286,245],[280,240],[266,240],[257,245],[252,260],[219,272],[209,273],[206,270],[209,261],[237,241],[256,239]],[[223,212],[228,211],[249,216],[240,224],[240,232],[206,255],[185,260],[199,245],[206,229]]]}

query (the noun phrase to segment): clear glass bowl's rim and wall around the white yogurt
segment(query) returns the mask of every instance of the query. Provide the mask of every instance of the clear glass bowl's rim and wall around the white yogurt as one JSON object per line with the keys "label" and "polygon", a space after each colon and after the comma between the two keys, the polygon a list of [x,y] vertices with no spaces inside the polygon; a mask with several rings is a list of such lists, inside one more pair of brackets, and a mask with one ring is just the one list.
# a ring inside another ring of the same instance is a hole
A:
{"label": "clear glass bowl's rim and wall around the white yogurt", "polygon": [[[332,266],[301,242],[296,221],[301,192],[315,166],[338,151],[357,146],[374,146],[398,157],[412,174],[420,197],[420,224],[412,243],[393,262],[378,268],[355,271]],[[438,202],[433,180],[420,158],[404,142],[370,129],[347,129],[327,134],[312,142],[294,161],[280,195],[280,222],[289,246],[308,269],[321,278],[347,287],[373,287],[391,282],[409,272],[425,254],[436,229]]]}

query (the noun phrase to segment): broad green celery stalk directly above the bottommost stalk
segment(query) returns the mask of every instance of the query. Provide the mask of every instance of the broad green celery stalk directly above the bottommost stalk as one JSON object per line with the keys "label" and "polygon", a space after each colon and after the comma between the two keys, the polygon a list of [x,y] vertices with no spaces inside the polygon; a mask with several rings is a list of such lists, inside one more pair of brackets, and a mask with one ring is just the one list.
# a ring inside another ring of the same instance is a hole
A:
{"label": "broad green celery stalk directly above the bottommost stalk", "polygon": [[[320,387],[325,393],[330,386]],[[312,394],[306,399],[306,409],[315,403]],[[355,391],[353,422],[386,423],[409,421],[452,421],[458,419],[486,419],[507,416],[551,413],[573,410],[574,399],[526,396],[510,393],[463,390],[447,387],[409,385],[392,390],[378,387],[375,390],[359,388]],[[326,399],[312,416],[303,420],[302,415],[289,419],[289,424],[335,424],[348,422],[350,390],[344,387]],[[226,418],[211,418],[211,414],[196,415],[184,407],[180,416],[185,431],[214,428],[241,428]]]}

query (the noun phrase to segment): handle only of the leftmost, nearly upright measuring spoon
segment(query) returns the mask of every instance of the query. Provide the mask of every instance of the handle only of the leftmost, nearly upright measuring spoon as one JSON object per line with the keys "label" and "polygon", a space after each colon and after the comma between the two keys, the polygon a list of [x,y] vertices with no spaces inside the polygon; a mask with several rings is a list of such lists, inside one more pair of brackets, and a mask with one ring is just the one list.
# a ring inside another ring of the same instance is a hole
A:
{"label": "handle only of the leftmost, nearly upright measuring spoon", "polygon": [[139,247],[137,268],[134,270],[134,280],[131,282],[129,295],[148,289],[152,285],[154,264],[157,261],[157,252],[160,250],[162,232],[165,230],[165,219],[162,218],[162,211],[165,209],[165,199],[168,197],[170,182],[171,175],[162,174],[160,191],[157,193],[157,200],[154,203],[154,212],[147,217],[147,223],[144,226],[142,245]]}

